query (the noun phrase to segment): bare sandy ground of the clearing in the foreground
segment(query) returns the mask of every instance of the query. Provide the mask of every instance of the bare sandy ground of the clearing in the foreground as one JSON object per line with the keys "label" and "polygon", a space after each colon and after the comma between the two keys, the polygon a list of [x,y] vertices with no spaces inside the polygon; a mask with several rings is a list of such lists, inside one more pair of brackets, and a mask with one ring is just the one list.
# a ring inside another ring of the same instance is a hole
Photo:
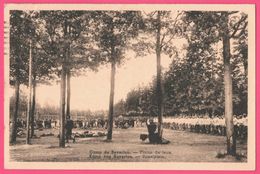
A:
{"label": "bare sandy ground of the clearing in the foreground", "polygon": [[[74,130],[80,132],[82,130]],[[105,130],[101,130],[105,131]],[[54,133],[32,139],[32,145],[25,145],[25,137],[18,138],[16,145],[10,146],[12,161],[154,161],[154,162],[246,162],[247,144],[238,141],[237,152],[241,159],[221,157],[226,149],[225,137],[198,134],[186,131],[164,129],[164,138],[169,144],[155,145],[139,139],[147,133],[144,127],[114,129],[113,141],[104,142],[105,137],[77,138],[76,143],[68,143],[59,148],[57,129],[36,131]],[[218,156],[218,157],[217,157]]]}

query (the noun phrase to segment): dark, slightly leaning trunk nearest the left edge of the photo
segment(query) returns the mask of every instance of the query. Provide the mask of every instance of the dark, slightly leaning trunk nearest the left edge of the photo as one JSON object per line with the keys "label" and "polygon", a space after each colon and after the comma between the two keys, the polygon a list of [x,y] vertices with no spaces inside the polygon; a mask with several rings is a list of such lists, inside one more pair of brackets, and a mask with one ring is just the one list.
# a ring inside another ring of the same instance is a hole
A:
{"label": "dark, slightly leaning trunk nearest the left edge of the photo", "polygon": [[16,143],[19,98],[20,98],[20,82],[19,82],[18,79],[16,79],[16,81],[15,81],[15,106],[14,106],[14,114],[13,114],[13,117],[12,117],[10,144]]}

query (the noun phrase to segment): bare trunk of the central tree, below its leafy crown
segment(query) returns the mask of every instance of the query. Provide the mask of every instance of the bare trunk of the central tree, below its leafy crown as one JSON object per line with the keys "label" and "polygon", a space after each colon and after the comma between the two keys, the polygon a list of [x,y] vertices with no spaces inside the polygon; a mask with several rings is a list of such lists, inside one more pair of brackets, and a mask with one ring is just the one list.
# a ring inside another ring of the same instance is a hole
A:
{"label": "bare trunk of the central tree, below its leafy crown", "polygon": [[112,62],[111,62],[109,111],[108,111],[108,128],[107,128],[107,140],[109,140],[109,141],[112,140],[112,130],[113,130],[115,74],[116,74],[116,64],[115,64],[115,61],[112,60]]}

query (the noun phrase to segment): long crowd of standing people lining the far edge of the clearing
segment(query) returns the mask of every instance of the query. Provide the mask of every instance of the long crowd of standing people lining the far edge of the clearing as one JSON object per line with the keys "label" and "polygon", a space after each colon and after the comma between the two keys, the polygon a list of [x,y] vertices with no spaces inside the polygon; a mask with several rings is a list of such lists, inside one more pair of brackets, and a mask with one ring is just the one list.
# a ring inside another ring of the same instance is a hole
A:
{"label": "long crowd of standing people lining the far edge of the clearing", "polygon": [[[151,117],[149,117],[151,119]],[[114,119],[114,127],[127,129],[132,127],[145,127],[147,117],[123,117],[119,116]],[[156,119],[154,119],[156,122]],[[73,128],[91,129],[91,128],[107,128],[107,119],[93,118],[86,120],[74,120]],[[12,123],[10,123],[12,124]],[[42,128],[58,128],[59,121],[52,119],[35,120],[34,126],[36,129]],[[26,121],[18,119],[18,128],[26,128]],[[163,127],[180,130],[190,131],[195,133],[204,133],[212,135],[226,135],[226,126],[224,117],[198,117],[198,116],[178,116],[178,117],[165,117],[163,119]],[[247,117],[245,115],[234,117],[234,129],[236,137],[240,139],[247,139]]]}

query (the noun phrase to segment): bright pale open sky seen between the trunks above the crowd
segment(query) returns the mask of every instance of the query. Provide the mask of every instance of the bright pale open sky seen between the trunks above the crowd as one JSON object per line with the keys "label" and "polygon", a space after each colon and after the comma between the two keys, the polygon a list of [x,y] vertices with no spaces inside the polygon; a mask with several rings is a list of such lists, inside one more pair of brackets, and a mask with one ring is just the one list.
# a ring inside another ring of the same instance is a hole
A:
{"label": "bright pale open sky seen between the trunks above the crowd", "polygon": [[[172,58],[162,57],[162,67],[166,70]],[[115,81],[115,103],[124,99],[127,93],[138,86],[148,85],[156,75],[156,56],[128,58],[117,67]],[[98,72],[88,71],[85,76],[71,79],[71,109],[107,110],[110,93],[110,65],[99,67]],[[59,106],[60,84],[40,85],[36,93],[41,105]]]}

